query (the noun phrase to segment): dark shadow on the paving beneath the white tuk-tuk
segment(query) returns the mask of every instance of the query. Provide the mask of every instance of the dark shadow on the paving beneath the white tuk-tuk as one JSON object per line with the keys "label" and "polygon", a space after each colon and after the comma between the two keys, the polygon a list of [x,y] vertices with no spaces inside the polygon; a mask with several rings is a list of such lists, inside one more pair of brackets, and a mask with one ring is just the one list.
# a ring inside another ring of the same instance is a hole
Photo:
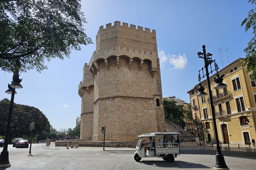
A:
{"label": "dark shadow on the paving beneath the white tuk-tuk", "polygon": [[208,167],[202,164],[196,164],[196,163],[191,163],[191,162],[185,162],[185,161],[174,161],[173,163],[169,163],[166,161],[140,161],[139,163],[150,165],[150,166],[157,166],[157,167],[175,167],[175,168],[209,168],[212,169],[212,167]]}

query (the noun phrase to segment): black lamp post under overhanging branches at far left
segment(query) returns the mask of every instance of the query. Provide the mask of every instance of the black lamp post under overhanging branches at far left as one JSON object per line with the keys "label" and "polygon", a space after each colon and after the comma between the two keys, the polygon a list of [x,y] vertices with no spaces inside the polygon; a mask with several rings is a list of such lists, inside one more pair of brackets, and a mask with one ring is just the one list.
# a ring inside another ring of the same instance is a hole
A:
{"label": "black lamp post under overhanging branches at far left", "polygon": [[5,132],[5,138],[4,138],[4,147],[3,151],[0,154],[0,168],[8,168],[11,166],[9,162],[9,152],[8,152],[8,141],[9,141],[9,134],[11,129],[11,120],[12,120],[12,111],[13,111],[13,101],[14,101],[14,94],[16,94],[15,89],[22,88],[22,85],[20,84],[22,79],[19,79],[19,73],[13,74],[12,84],[8,84],[8,90],[5,91],[5,93],[11,94],[11,102],[9,107],[9,113],[8,113],[8,119],[7,119],[7,126],[6,126],[6,132]]}

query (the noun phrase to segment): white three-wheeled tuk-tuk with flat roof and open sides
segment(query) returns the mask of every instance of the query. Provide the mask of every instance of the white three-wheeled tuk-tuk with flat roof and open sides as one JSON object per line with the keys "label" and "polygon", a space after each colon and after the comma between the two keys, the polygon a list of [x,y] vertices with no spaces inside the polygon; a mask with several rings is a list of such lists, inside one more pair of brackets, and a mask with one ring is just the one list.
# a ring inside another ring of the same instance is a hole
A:
{"label": "white three-wheeled tuk-tuk with flat roof and open sides", "polygon": [[[141,158],[161,157],[163,160],[173,162],[174,157],[180,155],[179,134],[178,132],[155,132],[139,135],[136,152],[134,152],[135,161],[140,161]],[[148,137],[152,137],[153,147],[147,149],[145,155],[143,144],[149,141]]]}

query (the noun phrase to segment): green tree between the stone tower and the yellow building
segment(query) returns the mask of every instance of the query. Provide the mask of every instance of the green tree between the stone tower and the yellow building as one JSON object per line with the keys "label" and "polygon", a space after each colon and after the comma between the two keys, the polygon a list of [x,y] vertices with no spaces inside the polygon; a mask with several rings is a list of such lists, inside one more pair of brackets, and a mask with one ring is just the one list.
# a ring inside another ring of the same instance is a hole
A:
{"label": "green tree between the stone tower and the yellow building", "polygon": [[164,103],[164,116],[178,125],[181,128],[185,128],[186,123],[183,120],[185,115],[185,111],[183,109],[183,105],[176,105],[175,101],[163,101]]}

